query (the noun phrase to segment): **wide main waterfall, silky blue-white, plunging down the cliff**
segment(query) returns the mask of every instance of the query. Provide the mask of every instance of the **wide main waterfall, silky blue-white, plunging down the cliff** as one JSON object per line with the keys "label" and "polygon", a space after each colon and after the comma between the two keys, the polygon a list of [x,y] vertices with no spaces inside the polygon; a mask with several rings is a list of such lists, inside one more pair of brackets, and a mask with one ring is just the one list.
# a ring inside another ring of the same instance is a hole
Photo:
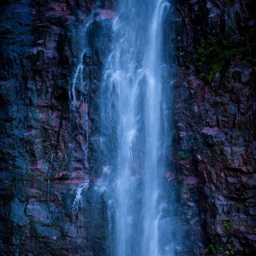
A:
{"label": "wide main waterfall, silky blue-white, plunging down the cliff", "polygon": [[161,185],[170,146],[162,82],[162,26],[169,7],[166,0],[122,0],[114,20],[101,107],[102,148],[116,174],[116,256],[173,254],[159,244]]}

